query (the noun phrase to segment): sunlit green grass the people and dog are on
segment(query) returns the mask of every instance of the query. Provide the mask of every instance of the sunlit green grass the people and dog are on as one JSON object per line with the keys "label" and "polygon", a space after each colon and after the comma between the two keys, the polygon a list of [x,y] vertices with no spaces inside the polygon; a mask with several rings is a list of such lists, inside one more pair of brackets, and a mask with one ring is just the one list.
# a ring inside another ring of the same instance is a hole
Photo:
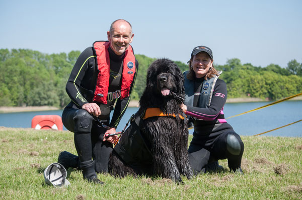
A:
{"label": "sunlit green grass the people and dog are on", "polygon": [[[189,140],[192,139],[190,135]],[[184,184],[160,177],[99,174],[104,185],[72,171],[67,188],[45,184],[43,171],[60,151],[75,153],[73,133],[0,127],[0,199],[302,199],[302,138],[242,136],[244,175],[223,170]]]}

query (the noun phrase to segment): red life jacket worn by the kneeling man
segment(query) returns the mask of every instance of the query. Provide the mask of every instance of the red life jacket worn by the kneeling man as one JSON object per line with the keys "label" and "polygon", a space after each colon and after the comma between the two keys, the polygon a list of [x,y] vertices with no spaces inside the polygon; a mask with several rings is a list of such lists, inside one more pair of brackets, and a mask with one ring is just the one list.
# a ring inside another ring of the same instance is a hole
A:
{"label": "red life jacket worn by the kneeling man", "polygon": [[[94,93],[93,101],[107,104],[109,78],[110,78],[110,58],[109,48],[110,42],[95,42],[93,48],[97,54],[97,64],[99,74],[97,78],[96,89]],[[125,51],[125,57],[123,60],[123,73],[122,73],[122,85],[121,85],[121,99],[129,96],[130,86],[133,81],[135,73],[135,57],[133,49],[129,45]]]}

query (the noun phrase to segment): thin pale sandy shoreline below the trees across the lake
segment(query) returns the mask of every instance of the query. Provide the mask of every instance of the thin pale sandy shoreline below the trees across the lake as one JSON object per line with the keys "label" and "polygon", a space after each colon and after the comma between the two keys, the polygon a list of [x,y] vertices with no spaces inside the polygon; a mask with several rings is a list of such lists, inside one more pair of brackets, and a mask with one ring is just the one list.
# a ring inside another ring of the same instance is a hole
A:
{"label": "thin pale sandy shoreline below the trees across the lake", "polygon": [[[302,100],[302,97],[295,97],[291,100]],[[248,103],[248,102],[264,102],[260,98],[231,98],[227,99],[226,103]],[[136,100],[130,101],[128,107],[139,107],[139,102]],[[0,113],[14,113],[14,112],[34,112],[34,111],[48,111],[48,110],[60,110],[61,108],[53,106],[0,106]]]}

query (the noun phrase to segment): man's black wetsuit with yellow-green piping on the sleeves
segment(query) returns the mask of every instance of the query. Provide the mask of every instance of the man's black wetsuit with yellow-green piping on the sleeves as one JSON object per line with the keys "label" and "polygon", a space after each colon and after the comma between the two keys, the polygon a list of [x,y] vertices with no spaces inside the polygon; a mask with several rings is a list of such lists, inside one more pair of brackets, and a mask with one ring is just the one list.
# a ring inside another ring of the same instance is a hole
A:
{"label": "man's black wetsuit with yellow-green piping on the sleeves", "polygon": [[[110,57],[110,79],[108,92],[115,92],[121,89],[121,74],[124,54],[118,56],[110,49],[110,47],[108,52]],[[137,73],[138,62],[136,60],[135,67],[135,73]],[[87,131],[84,129],[83,131],[79,130],[82,128],[79,128],[79,126],[82,126],[82,122],[80,125],[75,125],[75,120],[77,119],[77,111],[83,110],[81,108],[84,104],[92,103],[92,97],[85,93],[83,88],[94,91],[96,85],[96,79],[94,76],[96,74],[96,68],[96,53],[93,47],[88,47],[81,53],[77,62],[75,62],[70,77],[67,81],[66,92],[70,97],[71,102],[65,107],[62,113],[62,121],[64,126],[69,131],[74,132],[75,148],[77,149],[80,160],[91,160],[93,157],[95,160],[96,171],[106,172],[108,169],[109,154],[112,151],[112,144],[108,141],[103,142],[103,136],[107,129],[101,126],[100,122],[109,127],[116,128],[126,111],[129,103],[129,97],[124,99],[119,98],[116,100],[111,122],[110,112],[113,110],[115,100],[111,102],[108,101],[107,104],[95,102],[100,106],[101,115],[98,117],[98,119],[94,117],[91,132],[89,132],[91,133],[91,138],[87,138]],[[135,77],[136,75],[134,75],[132,84],[130,86],[129,96],[131,95],[134,86]],[[85,124],[85,122],[83,122],[83,124],[84,126],[88,126]],[[87,145],[89,143],[91,143],[91,146]]]}

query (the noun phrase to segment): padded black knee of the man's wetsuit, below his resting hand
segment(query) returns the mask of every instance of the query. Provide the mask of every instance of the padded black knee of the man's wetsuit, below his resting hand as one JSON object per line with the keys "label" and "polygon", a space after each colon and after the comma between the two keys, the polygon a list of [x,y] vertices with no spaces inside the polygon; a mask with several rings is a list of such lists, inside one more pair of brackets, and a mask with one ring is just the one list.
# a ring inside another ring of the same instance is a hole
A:
{"label": "padded black knee of the man's wetsuit, below his resting hand", "polygon": [[90,133],[92,128],[93,116],[84,109],[79,109],[75,112],[74,120],[74,133]]}

